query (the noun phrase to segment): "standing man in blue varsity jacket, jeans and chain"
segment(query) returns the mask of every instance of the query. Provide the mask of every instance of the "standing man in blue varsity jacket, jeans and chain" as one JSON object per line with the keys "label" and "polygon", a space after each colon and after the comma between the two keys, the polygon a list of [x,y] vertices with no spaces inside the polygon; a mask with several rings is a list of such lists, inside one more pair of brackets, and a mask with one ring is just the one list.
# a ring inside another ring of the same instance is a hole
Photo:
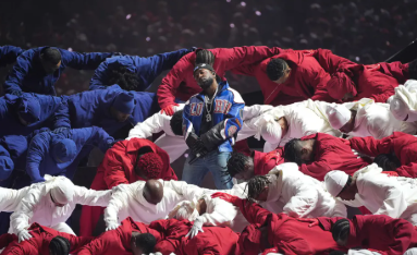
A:
{"label": "standing man in blue varsity jacket, jeans and chain", "polygon": [[245,102],[226,82],[218,83],[220,78],[210,64],[196,65],[194,78],[203,92],[184,107],[183,133],[191,156],[185,161],[183,181],[199,185],[211,171],[216,186],[228,190],[233,184],[226,174],[226,161],[243,125]]}

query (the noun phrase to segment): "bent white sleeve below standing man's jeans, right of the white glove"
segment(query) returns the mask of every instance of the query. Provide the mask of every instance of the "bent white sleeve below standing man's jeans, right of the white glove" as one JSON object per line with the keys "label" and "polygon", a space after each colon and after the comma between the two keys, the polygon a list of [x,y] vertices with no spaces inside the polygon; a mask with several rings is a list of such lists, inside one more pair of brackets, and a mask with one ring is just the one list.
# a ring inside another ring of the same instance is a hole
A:
{"label": "bent white sleeve below standing man's jeans, right of the white glove", "polygon": [[212,203],[216,203],[213,211],[199,217],[203,219],[204,226],[231,226],[237,215],[236,208],[221,198],[212,198]]}

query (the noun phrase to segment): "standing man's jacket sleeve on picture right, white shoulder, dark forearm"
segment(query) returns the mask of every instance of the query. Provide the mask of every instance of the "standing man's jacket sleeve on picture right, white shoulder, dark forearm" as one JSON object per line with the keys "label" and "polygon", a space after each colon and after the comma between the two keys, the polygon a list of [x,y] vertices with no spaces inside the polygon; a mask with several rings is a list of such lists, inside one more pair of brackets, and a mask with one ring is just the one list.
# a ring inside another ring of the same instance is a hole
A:
{"label": "standing man's jacket sleeve on picture right, white shoulder, dark forearm", "polygon": [[234,92],[233,94],[234,98],[231,100],[232,107],[225,114],[224,120],[216,124],[213,127],[211,127],[209,131],[207,131],[205,134],[201,134],[200,136],[208,150],[214,149],[225,139],[232,137],[236,138],[237,132],[242,129],[242,116],[245,102],[243,101],[241,95],[237,92]]}

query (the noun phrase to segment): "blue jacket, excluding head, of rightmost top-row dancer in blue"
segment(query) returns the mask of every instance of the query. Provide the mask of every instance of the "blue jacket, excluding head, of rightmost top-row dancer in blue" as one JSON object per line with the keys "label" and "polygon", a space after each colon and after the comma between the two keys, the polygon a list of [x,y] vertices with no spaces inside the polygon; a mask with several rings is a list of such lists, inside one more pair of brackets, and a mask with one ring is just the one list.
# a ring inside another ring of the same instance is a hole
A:
{"label": "blue jacket, excluding head, of rightmost top-row dancer in blue", "polygon": [[109,84],[111,72],[120,66],[124,66],[130,72],[135,73],[139,78],[142,86],[139,90],[146,90],[159,74],[165,70],[172,69],[184,54],[189,52],[189,49],[180,49],[148,58],[140,58],[137,56],[109,58],[96,69],[91,82],[89,83],[89,89],[106,88],[108,85],[112,85]]}

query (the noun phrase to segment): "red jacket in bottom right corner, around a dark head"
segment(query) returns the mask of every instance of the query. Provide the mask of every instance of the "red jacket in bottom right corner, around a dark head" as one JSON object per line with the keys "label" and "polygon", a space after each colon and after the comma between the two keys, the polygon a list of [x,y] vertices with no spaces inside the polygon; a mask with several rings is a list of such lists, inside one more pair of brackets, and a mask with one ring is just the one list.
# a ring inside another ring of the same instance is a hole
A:
{"label": "red jacket in bottom right corner, around a dark head", "polygon": [[[321,227],[331,231],[340,219],[319,217]],[[393,219],[385,215],[356,215],[351,221],[346,247],[376,250],[382,255],[402,255],[408,248],[417,247],[417,232],[405,219]]]}

